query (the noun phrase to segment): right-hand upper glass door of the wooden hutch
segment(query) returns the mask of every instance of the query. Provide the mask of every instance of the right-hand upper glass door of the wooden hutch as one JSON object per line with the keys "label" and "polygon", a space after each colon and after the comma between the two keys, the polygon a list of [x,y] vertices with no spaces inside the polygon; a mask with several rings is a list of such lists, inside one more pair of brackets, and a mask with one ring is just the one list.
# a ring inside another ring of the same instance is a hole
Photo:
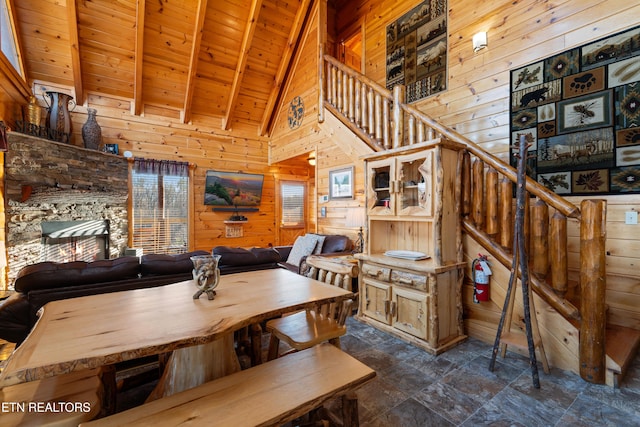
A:
{"label": "right-hand upper glass door of the wooden hutch", "polygon": [[396,210],[403,216],[433,216],[434,150],[398,157]]}

